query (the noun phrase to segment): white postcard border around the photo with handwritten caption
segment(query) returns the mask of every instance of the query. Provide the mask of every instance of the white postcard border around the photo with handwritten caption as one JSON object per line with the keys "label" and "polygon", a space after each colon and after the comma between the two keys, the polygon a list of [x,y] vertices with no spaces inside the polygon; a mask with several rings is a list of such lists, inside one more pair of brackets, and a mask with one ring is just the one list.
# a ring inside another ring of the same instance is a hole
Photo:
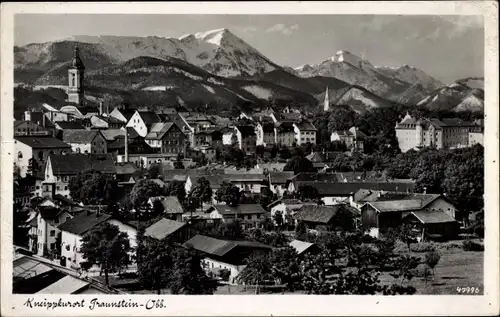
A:
{"label": "white postcard border around the photo with handwritten caption", "polygon": [[[12,104],[13,26],[16,13],[155,13],[155,14],[436,14],[483,15],[485,19],[485,263],[483,296],[311,296],[209,295],[161,296],[166,308],[29,309],[29,298],[64,301],[131,299],[146,305],[154,295],[42,296],[12,295]],[[498,169],[498,3],[428,2],[210,2],[210,3],[2,3],[1,10],[1,315],[484,315],[499,312],[499,169]]]}

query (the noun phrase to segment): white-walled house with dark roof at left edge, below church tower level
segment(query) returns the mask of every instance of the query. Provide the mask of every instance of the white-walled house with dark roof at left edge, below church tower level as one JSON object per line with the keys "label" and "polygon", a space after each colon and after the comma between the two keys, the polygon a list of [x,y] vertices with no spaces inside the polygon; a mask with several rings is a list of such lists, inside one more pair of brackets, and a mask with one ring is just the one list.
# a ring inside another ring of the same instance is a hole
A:
{"label": "white-walled house with dark roof at left edge, below church tower level", "polygon": [[53,136],[14,136],[14,148],[14,163],[21,177],[43,171],[49,155],[71,152],[69,144]]}

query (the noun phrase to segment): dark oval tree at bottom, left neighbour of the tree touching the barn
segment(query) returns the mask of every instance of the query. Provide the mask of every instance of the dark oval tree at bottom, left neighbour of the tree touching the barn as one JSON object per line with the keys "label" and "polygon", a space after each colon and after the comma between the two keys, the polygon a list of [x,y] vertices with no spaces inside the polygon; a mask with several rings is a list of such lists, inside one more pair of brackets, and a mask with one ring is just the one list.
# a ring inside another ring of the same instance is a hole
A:
{"label": "dark oval tree at bottom, left neighbour of the tree touching the barn", "polygon": [[156,239],[146,239],[141,243],[142,256],[137,261],[139,281],[146,289],[161,290],[171,283],[174,255],[169,243]]}

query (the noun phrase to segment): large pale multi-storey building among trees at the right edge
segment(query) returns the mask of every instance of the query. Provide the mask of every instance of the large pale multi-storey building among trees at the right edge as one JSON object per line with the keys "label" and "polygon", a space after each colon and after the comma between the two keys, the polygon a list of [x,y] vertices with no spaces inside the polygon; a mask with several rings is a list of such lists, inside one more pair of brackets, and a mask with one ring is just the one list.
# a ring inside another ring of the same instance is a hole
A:
{"label": "large pale multi-storey building among trees at the right edge", "polygon": [[482,132],[479,122],[466,122],[456,118],[415,118],[406,114],[396,124],[396,138],[402,152],[423,147],[437,149],[469,146],[469,133]]}

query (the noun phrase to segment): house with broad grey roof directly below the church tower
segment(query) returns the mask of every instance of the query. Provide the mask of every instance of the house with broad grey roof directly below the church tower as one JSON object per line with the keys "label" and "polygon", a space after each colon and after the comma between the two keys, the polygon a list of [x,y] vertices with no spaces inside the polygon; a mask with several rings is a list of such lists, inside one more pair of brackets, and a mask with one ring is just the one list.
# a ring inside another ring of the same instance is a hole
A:
{"label": "house with broad grey roof directly below the church tower", "polygon": [[71,145],[75,153],[107,153],[106,139],[99,130],[64,130],[63,141]]}

